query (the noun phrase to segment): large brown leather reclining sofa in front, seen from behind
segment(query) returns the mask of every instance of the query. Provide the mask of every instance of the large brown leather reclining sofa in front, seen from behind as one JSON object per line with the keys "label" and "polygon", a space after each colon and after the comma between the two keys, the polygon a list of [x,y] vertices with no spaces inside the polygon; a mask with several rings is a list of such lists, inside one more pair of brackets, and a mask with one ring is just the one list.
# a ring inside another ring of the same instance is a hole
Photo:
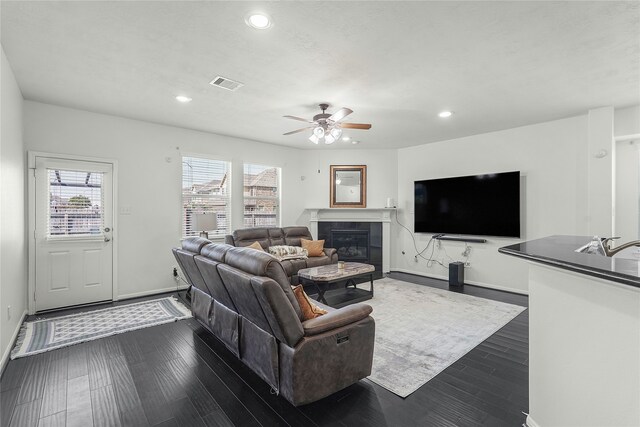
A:
{"label": "large brown leather reclining sofa in front, seen from behind", "polygon": [[173,250],[185,276],[202,279],[192,282],[194,317],[289,402],[314,402],[371,374],[370,306],[318,303],[328,313],[303,321],[278,260],[201,240]]}

